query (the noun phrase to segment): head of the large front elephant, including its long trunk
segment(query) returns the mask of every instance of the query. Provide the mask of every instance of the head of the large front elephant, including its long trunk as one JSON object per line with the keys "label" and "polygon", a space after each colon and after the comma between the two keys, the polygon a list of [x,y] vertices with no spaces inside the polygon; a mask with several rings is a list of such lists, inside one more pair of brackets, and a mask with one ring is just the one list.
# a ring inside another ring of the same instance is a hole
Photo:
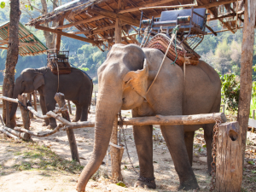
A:
{"label": "head of the large front elephant, including its long trunk", "polygon": [[94,149],[79,177],[77,190],[84,191],[101,166],[110,141],[113,120],[120,109],[140,106],[148,88],[148,64],[143,49],[135,44],[115,44],[99,67]]}

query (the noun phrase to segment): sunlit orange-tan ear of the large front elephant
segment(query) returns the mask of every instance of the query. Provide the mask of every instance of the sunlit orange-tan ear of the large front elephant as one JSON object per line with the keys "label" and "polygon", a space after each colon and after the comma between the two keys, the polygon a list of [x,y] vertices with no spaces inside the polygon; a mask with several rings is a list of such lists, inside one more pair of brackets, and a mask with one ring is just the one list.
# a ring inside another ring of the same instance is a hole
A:
{"label": "sunlit orange-tan ear of the large front elephant", "polygon": [[148,64],[146,59],[144,60],[142,70],[137,70],[135,72],[131,71],[125,74],[123,79],[123,90],[127,86],[131,86],[131,89],[135,90],[137,94],[146,99],[148,89]]}

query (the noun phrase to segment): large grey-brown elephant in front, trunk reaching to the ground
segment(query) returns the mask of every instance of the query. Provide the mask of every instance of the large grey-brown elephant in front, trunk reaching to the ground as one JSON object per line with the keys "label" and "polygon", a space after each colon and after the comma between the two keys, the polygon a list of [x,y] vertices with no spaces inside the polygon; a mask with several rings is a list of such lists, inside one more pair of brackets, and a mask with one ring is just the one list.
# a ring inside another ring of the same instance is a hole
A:
{"label": "large grey-brown elephant in front, trunk reaching to the ground", "polygon": [[[186,66],[184,75],[182,67],[166,58],[152,84],[163,58],[164,54],[159,49],[114,44],[106,61],[98,68],[94,148],[79,177],[79,192],[85,191],[88,180],[101,166],[114,117],[121,109],[132,109],[132,117],[219,112],[221,83],[212,67],[199,61],[197,66]],[[205,129],[207,155],[210,155],[212,125],[160,125],[180,180],[178,189],[199,189],[191,165],[194,132],[201,127]],[[153,125],[134,125],[133,135],[140,167],[135,187],[155,189]]]}

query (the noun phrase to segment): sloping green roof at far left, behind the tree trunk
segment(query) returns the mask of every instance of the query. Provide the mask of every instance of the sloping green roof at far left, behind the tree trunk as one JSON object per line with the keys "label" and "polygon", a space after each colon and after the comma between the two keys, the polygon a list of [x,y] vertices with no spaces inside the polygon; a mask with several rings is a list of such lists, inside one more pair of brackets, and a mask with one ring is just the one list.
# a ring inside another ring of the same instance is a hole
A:
{"label": "sloping green roof at far left, behind the tree trunk", "polygon": [[[0,38],[3,39],[1,41],[2,44],[8,44],[7,41],[9,39],[9,21],[0,25]],[[19,54],[21,56],[40,55],[48,49],[32,32],[26,28],[26,26],[23,26],[20,22],[19,41]]]}

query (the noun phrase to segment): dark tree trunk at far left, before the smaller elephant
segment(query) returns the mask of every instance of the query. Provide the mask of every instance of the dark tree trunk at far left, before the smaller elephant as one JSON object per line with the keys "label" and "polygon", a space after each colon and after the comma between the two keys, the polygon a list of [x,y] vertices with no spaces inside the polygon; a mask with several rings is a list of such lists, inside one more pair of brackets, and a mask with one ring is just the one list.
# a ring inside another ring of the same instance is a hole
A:
{"label": "dark tree trunk at far left, before the smaller elephant", "polygon": [[[19,20],[20,20],[20,1],[10,1],[9,14],[9,46],[7,50],[5,73],[3,79],[3,96],[12,97],[15,85],[15,67],[19,56]],[[10,102],[3,102],[3,120],[8,127],[15,126],[15,119],[10,121],[9,111]]]}

